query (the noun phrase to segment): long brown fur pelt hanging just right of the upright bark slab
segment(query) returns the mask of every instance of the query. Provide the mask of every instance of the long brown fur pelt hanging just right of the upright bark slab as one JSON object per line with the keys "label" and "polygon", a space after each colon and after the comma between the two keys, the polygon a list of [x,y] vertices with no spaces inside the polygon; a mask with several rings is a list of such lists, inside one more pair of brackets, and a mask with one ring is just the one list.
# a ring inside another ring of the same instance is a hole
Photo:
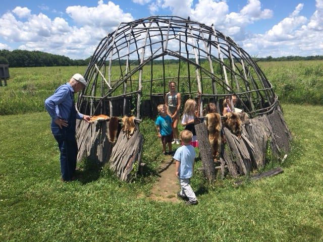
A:
{"label": "long brown fur pelt hanging just right of the upright bark slab", "polygon": [[221,147],[221,129],[222,122],[219,113],[207,113],[206,114],[206,127],[208,133],[208,141],[212,148],[213,159],[216,159],[220,153]]}

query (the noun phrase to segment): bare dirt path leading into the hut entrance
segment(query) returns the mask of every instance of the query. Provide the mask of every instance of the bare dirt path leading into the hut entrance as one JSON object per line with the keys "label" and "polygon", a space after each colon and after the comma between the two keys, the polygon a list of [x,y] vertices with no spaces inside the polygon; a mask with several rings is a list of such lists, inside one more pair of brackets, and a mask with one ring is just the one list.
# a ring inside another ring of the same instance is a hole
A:
{"label": "bare dirt path leading into the hut entrance", "polygon": [[172,157],[167,157],[161,164],[159,180],[151,189],[150,199],[164,202],[181,202],[177,198],[177,192],[180,190],[178,178],[175,176],[175,162]]}

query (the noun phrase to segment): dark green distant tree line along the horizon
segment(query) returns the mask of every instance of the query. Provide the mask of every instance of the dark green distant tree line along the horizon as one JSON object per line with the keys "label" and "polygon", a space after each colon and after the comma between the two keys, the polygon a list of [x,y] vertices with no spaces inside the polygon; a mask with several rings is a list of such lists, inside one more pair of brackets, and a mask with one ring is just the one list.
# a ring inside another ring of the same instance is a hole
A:
{"label": "dark green distant tree line along the horizon", "polygon": [[[267,56],[264,58],[252,57],[254,61],[317,61],[322,60],[323,55],[310,55],[310,56],[282,56],[282,57],[272,57]],[[87,66],[90,62],[91,57],[86,59],[71,59],[64,55],[51,54],[42,51],[29,51],[29,50],[20,50],[16,49],[13,51],[10,50],[0,50],[0,64],[9,64],[10,67],[64,67],[64,66]],[[195,62],[195,58],[192,59]],[[205,58],[200,59],[200,62],[207,61]],[[132,65],[138,65],[139,60],[132,60],[130,63]],[[168,64],[177,64],[179,59],[164,59],[154,60],[154,65],[165,65]],[[112,66],[126,65],[126,59],[120,59],[119,61],[113,61]]]}

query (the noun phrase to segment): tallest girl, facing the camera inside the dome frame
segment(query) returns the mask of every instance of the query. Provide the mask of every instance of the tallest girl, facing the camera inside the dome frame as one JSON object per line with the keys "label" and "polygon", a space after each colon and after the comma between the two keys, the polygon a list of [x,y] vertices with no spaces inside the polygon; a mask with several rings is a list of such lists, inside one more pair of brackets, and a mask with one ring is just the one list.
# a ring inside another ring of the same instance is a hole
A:
{"label": "tallest girl, facing the camera inside the dome frame", "polygon": [[174,141],[172,144],[180,144],[180,140],[178,138],[178,121],[180,118],[180,108],[181,108],[181,94],[176,90],[176,83],[174,81],[170,81],[168,83],[168,87],[170,92],[166,93],[165,96],[165,105],[167,114],[170,115],[173,119],[173,136]]}

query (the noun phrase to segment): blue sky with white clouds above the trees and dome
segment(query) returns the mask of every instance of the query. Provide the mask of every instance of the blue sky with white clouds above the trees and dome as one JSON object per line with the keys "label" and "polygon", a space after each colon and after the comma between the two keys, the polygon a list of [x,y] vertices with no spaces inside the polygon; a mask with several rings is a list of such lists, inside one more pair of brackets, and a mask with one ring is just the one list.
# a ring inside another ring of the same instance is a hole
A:
{"label": "blue sky with white clouds above the trees and dome", "polygon": [[323,0],[10,0],[0,9],[0,49],[91,56],[121,22],[190,17],[253,57],[323,55]]}

